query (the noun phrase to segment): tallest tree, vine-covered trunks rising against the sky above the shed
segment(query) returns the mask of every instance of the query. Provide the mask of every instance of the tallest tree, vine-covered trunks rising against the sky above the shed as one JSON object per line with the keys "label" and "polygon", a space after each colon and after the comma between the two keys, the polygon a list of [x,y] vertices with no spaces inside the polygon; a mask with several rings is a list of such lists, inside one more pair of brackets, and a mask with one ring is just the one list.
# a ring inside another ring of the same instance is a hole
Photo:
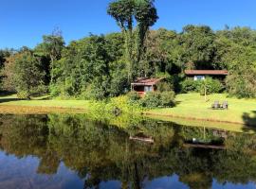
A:
{"label": "tallest tree, vine-covered trunks rising against the sky above the shed", "polygon": [[128,80],[131,81],[137,75],[136,63],[139,63],[145,52],[144,42],[149,27],[158,19],[154,0],[114,1],[109,4],[107,13],[117,21],[124,35]]}

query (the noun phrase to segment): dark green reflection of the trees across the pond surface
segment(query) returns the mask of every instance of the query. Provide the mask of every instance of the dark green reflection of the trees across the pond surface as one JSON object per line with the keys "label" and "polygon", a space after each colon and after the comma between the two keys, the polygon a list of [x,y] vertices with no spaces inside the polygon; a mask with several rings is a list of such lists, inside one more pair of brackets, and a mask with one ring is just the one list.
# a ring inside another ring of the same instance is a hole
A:
{"label": "dark green reflection of the trees across the pond surface", "polygon": [[[202,129],[153,120],[126,121],[126,128],[106,125],[88,116],[37,115],[0,117],[1,147],[17,157],[40,158],[38,173],[55,174],[59,163],[85,179],[86,187],[102,180],[120,180],[123,188],[142,188],[142,182],[177,174],[191,188],[210,188],[219,182],[246,183],[256,180],[256,136],[229,133],[227,150],[183,148],[182,138],[200,137]],[[109,121],[108,121],[109,123]],[[154,145],[129,140],[143,131],[155,138]],[[206,137],[214,139],[206,129]]]}

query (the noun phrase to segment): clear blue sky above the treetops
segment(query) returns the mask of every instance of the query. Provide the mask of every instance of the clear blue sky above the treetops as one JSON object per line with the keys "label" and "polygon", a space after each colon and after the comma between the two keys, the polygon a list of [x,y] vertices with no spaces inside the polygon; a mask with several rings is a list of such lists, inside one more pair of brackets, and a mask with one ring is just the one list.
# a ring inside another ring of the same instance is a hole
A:
{"label": "clear blue sky above the treetops", "polygon": [[[29,47],[42,42],[55,27],[63,31],[66,43],[92,32],[119,31],[106,14],[111,0],[1,0],[0,48]],[[180,31],[188,24],[213,29],[228,26],[256,28],[255,0],[155,0],[159,20],[154,28]]]}

